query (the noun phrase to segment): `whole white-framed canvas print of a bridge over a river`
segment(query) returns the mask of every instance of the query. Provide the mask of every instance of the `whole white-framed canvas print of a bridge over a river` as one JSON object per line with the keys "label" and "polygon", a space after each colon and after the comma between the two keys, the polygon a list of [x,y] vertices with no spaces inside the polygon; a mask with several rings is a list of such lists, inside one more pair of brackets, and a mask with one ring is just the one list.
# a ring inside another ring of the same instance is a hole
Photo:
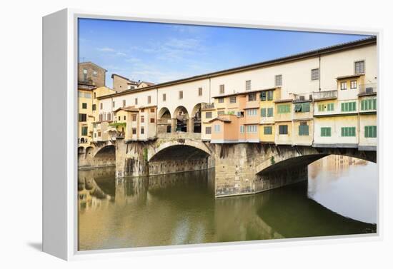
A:
{"label": "whole white-framed canvas print of a bridge over a river", "polygon": [[44,251],[379,238],[379,31],[43,25]]}

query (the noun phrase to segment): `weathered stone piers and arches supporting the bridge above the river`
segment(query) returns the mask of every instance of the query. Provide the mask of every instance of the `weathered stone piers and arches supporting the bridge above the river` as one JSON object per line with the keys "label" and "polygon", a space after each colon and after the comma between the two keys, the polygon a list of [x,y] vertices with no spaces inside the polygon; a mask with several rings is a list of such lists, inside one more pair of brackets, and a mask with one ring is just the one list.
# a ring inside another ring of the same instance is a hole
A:
{"label": "weathered stone piers and arches supporting the bridge above the river", "polygon": [[154,176],[215,168],[216,197],[268,191],[307,180],[307,166],[329,154],[377,161],[376,152],[357,148],[314,148],[261,143],[210,144],[189,133],[154,141],[118,139],[79,148],[79,167],[116,165],[116,178]]}

